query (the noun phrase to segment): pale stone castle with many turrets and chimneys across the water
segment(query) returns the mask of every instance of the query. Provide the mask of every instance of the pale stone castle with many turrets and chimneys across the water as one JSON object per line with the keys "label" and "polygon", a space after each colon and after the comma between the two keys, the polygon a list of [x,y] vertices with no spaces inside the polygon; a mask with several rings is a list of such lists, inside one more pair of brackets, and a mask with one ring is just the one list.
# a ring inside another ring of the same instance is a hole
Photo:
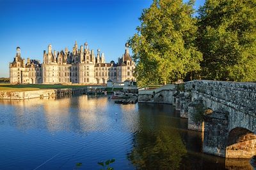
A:
{"label": "pale stone castle with many turrets and chimneys across the water", "polygon": [[122,83],[136,81],[134,78],[135,63],[129,54],[128,44],[125,53],[118,62],[113,60],[106,63],[104,53],[97,54],[88,48],[88,43],[78,48],[75,43],[72,52],[52,52],[52,46],[44,51],[44,62],[39,60],[22,59],[20,48],[10,63],[10,83],[85,83],[106,84],[107,81]]}

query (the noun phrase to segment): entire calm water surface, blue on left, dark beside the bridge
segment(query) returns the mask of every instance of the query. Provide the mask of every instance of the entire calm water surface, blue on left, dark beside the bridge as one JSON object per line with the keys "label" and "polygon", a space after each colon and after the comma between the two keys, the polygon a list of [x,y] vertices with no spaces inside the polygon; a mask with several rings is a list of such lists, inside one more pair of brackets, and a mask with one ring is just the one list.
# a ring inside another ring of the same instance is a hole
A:
{"label": "entire calm water surface, blue on left, dark beside the bridge", "polygon": [[[201,153],[168,104],[115,104],[108,96],[0,100],[0,169],[251,169]],[[78,162],[81,167],[76,167]]]}

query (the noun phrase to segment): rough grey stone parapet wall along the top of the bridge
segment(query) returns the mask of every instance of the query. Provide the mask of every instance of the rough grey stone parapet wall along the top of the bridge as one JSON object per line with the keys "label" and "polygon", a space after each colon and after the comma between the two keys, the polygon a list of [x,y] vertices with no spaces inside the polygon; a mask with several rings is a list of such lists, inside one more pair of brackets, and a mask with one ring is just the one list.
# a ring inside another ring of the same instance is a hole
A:
{"label": "rough grey stone parapet wall along the top of the bridge", "polygon": [[193,80],[185,83],[185,89],[187,92],[198,93],[199,96],[211,98],[218,103],[256,116],[256,83]]}

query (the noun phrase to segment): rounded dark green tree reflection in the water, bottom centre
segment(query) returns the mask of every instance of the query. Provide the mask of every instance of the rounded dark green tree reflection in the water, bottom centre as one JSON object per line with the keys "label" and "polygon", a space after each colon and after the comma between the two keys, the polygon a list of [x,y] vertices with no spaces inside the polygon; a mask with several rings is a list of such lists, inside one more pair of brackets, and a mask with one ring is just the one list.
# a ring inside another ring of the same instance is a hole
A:
{"label": "rounded dark green tree reflection in the water, bottom centre", "polygon": [[134,134],[133,149],[128,159],[138,169],[179,169],[186,147],[179,132],[162,129]]}

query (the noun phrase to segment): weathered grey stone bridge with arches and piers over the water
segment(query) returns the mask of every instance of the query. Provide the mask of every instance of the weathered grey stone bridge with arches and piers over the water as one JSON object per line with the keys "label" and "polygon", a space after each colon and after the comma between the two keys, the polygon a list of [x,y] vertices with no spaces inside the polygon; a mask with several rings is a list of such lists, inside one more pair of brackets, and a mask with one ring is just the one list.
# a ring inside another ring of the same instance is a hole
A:
{"label": "weathered grey stone bridge with arches and piers over the water", "polygon": [[184,89],[176,103],[188,117],[188,128],[204,131],[205,153],[229,158],[256,155],[256,83],[194,80]]}

